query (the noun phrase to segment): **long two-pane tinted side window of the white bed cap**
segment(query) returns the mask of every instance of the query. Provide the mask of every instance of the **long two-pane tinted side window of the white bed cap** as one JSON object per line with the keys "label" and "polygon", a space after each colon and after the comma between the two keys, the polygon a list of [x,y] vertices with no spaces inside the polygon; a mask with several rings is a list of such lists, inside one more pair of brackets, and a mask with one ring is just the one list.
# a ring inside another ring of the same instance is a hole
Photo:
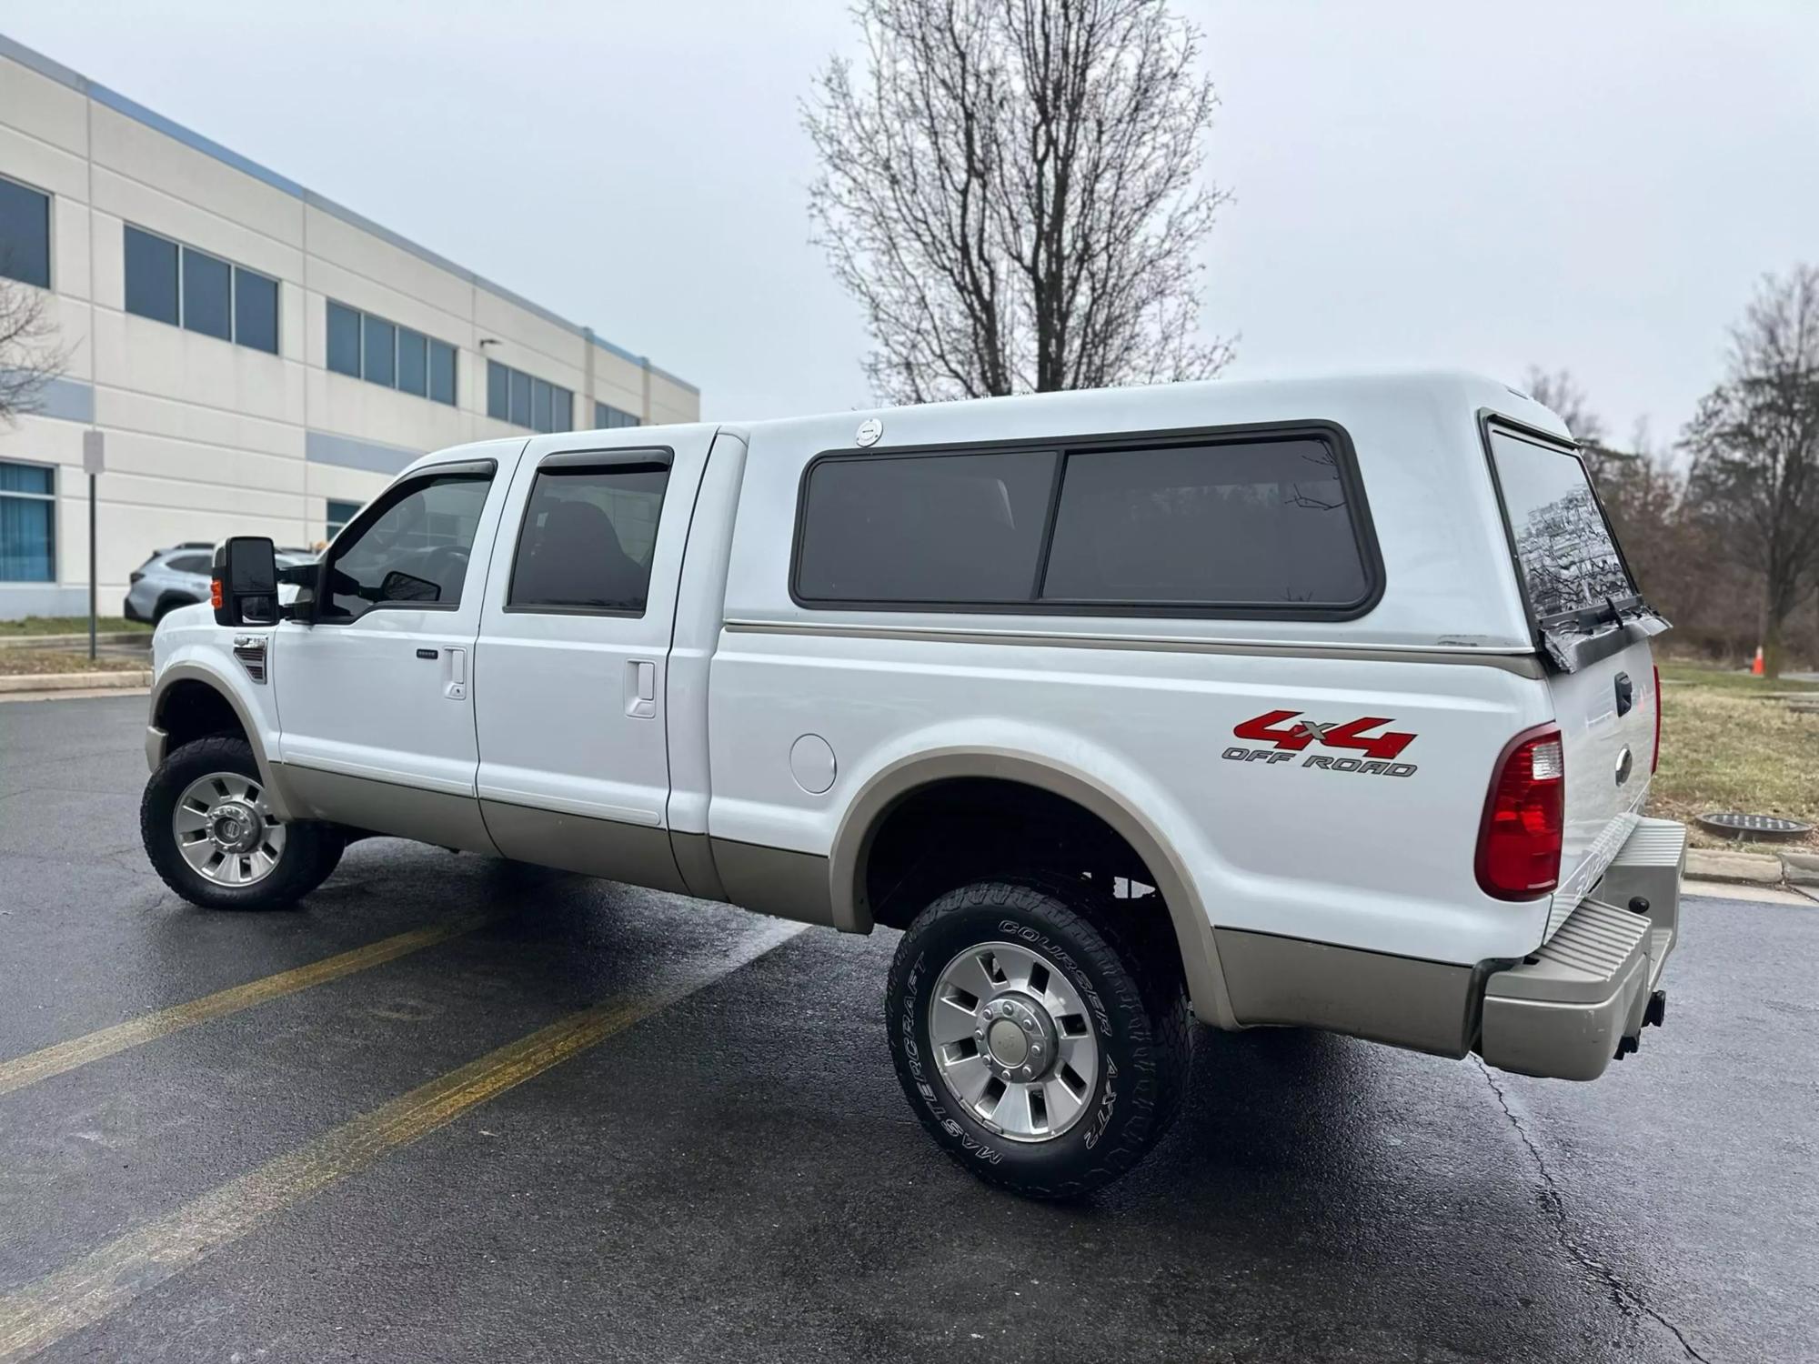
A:
{"label": "long two-pane tinted side window of the white bed cap", "polygon": [[[1057,489],[1059,478],[1059,489]],[[804,602],[1355,613],[1362,509],[1324,435],[815,462]]]}

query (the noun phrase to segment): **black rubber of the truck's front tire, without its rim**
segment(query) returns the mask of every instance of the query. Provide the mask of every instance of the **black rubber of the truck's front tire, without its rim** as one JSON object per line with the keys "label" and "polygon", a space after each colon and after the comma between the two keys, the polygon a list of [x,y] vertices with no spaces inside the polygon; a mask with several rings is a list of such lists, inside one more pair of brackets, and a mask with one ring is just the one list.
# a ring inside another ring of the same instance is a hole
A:
{"label": "black rubber of the truck's front tire, without its rim", "polygon": [[138,802],[138,837],[166,886],[202,909],[278,909],[296,904],[327,880],[340,862],[346,840],[333,824],[317,820],[286,824],[278,864],[251,886],[218,886],[191,868],[176,849],[171,813],[184,789],[211,771],[258,780],[253,746],[227,735],[196,738],[166,757],[146,782],[146,795]]}

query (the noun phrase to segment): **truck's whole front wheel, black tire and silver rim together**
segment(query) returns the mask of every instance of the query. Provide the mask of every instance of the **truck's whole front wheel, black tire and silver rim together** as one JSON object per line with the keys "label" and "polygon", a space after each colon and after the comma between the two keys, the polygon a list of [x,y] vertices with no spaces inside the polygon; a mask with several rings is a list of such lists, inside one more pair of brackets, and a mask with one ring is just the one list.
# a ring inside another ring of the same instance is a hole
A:
{"label": "truck's whole front wheel, black tire and silver rim together", "polygon": [[204,909],[271,909],[309,895],[335,869],[340,829],[284,824],[253,747],[215,735],[184,744],[146,784],[138,833],[164,884]]}

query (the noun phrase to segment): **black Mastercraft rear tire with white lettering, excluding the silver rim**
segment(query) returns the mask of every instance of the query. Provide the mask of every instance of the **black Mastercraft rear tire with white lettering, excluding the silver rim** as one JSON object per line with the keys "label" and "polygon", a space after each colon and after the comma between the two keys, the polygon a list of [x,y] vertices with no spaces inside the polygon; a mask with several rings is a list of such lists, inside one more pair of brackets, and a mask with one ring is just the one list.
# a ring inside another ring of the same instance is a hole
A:
{"label": "black Mastercraft rear tire with white lettering, excluding the silver rim", "polygon": [[[1110,900],[1086,882],[980,880],[930,904],[897,944],[886,989],[897,1078],[935,1144],[988,1184],[1031,1199],[1090,1193],[1131,1169],[1173,1120],[1193,1018],[1173,962],[1155,946],[1137,946],[1141,935],[1130,928],[1119,929],[1131,913],[1161,908]],[[933,1062],[928,1009],[937,977],[968,946],[997,940],[1042,953],[1097,1000],[1104,1062],[1086,1115],[1042,1142],[1010,1140],[984,1126],[955,1102]]]}

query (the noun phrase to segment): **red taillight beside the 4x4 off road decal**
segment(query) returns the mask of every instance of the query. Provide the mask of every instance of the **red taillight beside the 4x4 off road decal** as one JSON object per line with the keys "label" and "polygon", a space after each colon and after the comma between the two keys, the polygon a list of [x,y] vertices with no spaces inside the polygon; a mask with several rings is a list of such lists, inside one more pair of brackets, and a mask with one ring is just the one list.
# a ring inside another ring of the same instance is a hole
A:
{"label": "red taillight beside the 4x4 off road decal", "polygon": [[1524,729],[1497,760],[1484,802],[1477,855],[1482,891],[1499,900],[1530,900],[1559,886],[1564,817],[1566,757],[1559,726]]}

